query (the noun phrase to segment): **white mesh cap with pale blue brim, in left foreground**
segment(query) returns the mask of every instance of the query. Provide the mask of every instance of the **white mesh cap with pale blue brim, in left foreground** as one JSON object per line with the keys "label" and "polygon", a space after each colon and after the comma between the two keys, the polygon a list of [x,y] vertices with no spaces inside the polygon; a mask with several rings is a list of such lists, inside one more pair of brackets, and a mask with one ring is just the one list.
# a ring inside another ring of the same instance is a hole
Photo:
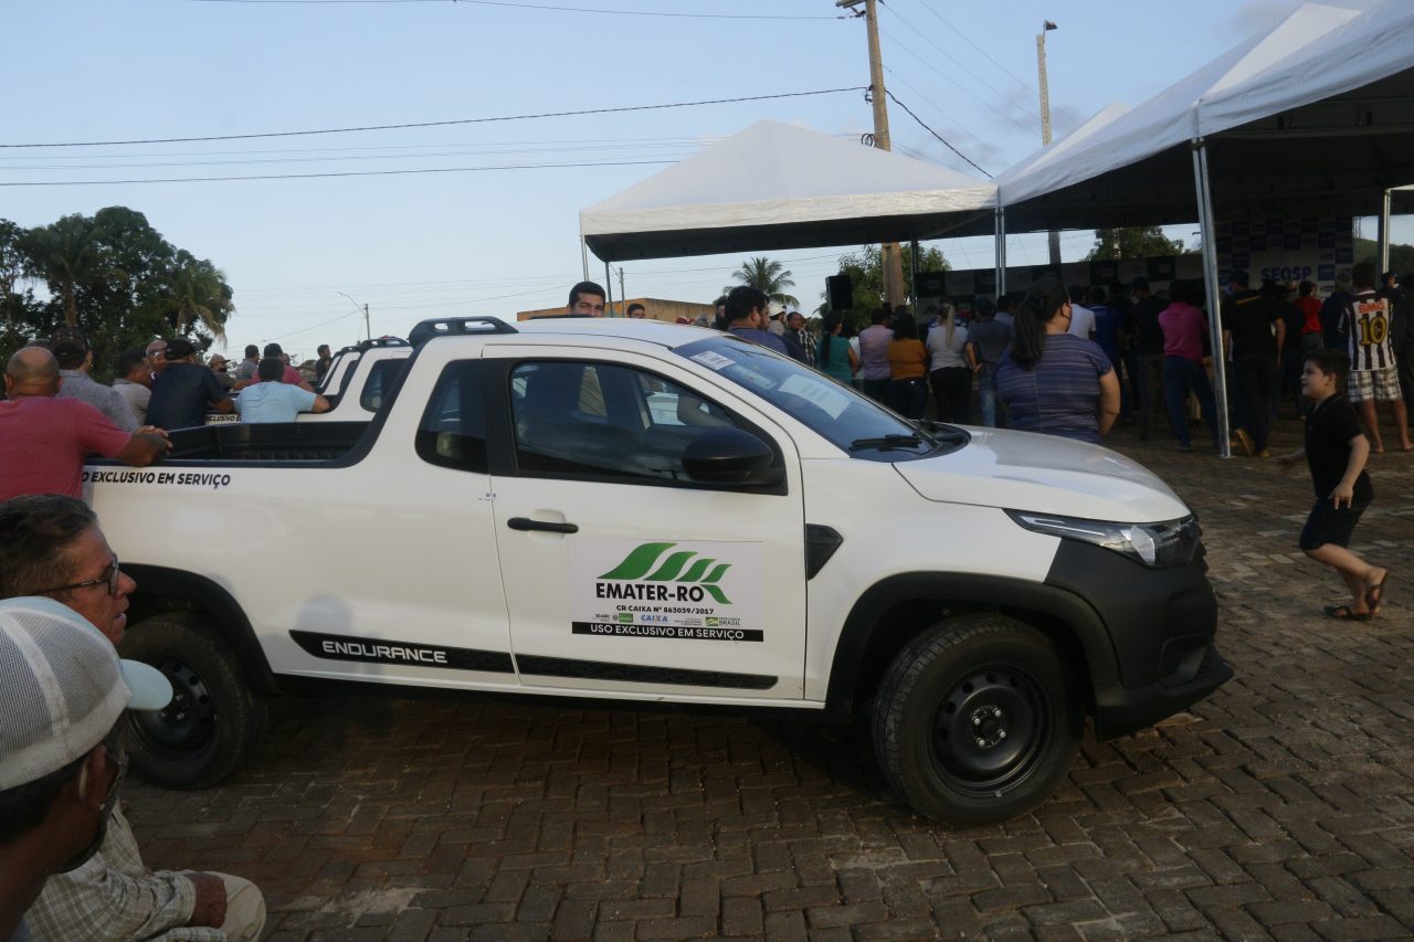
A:
{"label": "white mesh cap with pale blue brim, in left foreground", "polygon": [[160,670],[120,661],[86,618],[52,598],[0,601],[0,791],[88,755],[124,709],[173,697]]}

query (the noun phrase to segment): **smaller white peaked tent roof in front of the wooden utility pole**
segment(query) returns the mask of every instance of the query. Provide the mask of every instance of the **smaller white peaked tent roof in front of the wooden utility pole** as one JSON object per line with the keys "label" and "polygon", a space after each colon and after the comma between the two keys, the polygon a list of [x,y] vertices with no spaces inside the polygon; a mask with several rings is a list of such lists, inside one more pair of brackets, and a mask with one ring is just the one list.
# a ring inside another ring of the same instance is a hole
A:
{"label": "smaller white peaked tent roof in front of the wooden utility pole", "polygon": [[759,122],[580,212],[605,262],[990,232],[995,187],[781,122]]}

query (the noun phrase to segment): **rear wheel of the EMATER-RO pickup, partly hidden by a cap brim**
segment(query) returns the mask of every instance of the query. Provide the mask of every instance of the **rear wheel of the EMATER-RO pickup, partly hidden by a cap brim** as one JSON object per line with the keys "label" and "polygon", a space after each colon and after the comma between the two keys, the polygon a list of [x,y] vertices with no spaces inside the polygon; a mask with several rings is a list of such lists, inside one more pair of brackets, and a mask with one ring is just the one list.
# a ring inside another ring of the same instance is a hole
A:
{"label": "rear wheel of the EMATER-RO pickup, partly hidden by a cap brim", "polygon": [[127,713],[133,769],[158,785],[206,788],[235,772],[264,735],[266,709],[230,646],[199,615],[173,612],[129,628],[122,655],[173,685],[164,710]]}

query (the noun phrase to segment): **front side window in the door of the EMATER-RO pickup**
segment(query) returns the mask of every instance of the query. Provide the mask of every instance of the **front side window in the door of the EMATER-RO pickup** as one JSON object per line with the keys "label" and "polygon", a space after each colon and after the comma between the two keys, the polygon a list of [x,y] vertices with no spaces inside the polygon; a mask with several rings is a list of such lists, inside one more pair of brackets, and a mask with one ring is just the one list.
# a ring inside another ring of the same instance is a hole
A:
{"label": "front side window in the door of the EMATER-RO pickup", "polygon": [[672,380],[612,364],[522,364],[510,390],[522,474],[686,484],[687,446],[740,424]]}

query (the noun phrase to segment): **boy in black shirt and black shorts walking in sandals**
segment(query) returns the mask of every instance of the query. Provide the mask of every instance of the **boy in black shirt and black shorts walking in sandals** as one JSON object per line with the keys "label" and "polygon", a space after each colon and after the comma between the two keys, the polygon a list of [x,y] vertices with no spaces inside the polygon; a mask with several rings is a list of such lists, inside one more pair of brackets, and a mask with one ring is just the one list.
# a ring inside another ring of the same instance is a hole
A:
{"label": "boy in black shirt and black shorts walking in sandals", "polygon": [[1365,472],[1370,441],[1360,431],[1355,409],[1340,393],[1345,355],[1333,349],[1309,351],[1301,371],[1301,393],[1311,400],[1305,447],[1277,461],[1290,468],[1301,458],[1311,468],[1316,502],[1301,530],[1301,549],[1340,574],[1350,590],[1346,605],[1326,605],[1325,614],[1349,621],[1369,621],[1380,611],[1390,570],[1372,566],[1348,546],[1355,525],[1374,499]]}

